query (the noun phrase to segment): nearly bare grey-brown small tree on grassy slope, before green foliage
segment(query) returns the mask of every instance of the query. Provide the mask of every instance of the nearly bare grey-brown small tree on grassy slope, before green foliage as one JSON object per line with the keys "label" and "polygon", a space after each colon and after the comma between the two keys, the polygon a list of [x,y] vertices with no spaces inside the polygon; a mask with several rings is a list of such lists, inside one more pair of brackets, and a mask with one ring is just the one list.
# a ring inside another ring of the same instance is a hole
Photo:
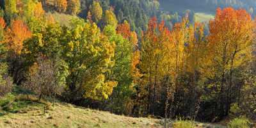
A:
{"label": "nearly bare grey-brown small tree on grassy slope, before green foliage", "polygon": [[67,74],[62,70],[63,63],[62,60],[49,59],[41,54],[29,67],[27,81],[22,86],[38,93],[39,100],[48,96],[54,98],[55,102],[56,95],[60,95],[66,85]]}

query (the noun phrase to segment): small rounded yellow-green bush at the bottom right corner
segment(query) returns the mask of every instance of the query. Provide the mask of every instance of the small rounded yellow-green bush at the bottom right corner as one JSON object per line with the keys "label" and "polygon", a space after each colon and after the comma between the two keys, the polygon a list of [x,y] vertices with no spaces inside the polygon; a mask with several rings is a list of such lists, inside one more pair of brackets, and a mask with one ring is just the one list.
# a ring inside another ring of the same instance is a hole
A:
{"label": "small rounded yellow-green bush at the bottom right corner", "polygon": [[250,121],[247,118],[234,118],[228,123],[228,128],[250,128]]}

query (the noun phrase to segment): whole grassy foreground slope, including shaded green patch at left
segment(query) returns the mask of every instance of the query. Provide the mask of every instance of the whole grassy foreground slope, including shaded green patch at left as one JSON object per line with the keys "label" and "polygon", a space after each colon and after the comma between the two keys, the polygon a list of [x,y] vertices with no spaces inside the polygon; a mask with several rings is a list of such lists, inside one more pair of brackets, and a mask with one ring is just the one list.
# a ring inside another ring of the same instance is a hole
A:
{"label": "whole grassy foreground slope, including shaded green patch at left", "polygon": [[[173,123],[173,121],[170,123]],[[221,127],[216,124],[192,123],[196,128]],[[52,103],[46,100],[38,100],[31,95],[9,95],[8,97],[2,97],[0,99],[0,128],[15,127],[161,128],[163,127],[163,120],[114,115],[109,112],[80,108],[63,102],[57,102],[55,106],[52,107]]]}

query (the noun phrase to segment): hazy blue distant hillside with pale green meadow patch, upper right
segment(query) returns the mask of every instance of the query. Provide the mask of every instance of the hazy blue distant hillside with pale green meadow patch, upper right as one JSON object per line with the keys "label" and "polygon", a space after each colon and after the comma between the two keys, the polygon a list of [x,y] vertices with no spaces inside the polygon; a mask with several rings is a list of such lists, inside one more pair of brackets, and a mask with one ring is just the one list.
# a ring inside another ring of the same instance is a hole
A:
{"label": "hazy blue distant hillside with pale green meadow patch, upper right", "polygon": [[253,0],[159,0],[161,10],[165,12],[184,13],[186,10],[195,12],[197,22],[207,22],[214,18],[216,8],[243,8],[253,17],[256,15],[256,2]]}

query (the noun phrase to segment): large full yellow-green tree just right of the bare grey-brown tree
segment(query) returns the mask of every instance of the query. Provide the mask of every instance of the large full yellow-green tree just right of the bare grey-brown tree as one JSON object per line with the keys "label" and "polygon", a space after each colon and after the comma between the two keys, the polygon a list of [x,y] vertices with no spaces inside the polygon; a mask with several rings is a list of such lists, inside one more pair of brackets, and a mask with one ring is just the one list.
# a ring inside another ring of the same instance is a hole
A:
{"label": "large full yellow-green tree just right of the bare grey-brown tree", "polygon": [[71,26],[63,35],[63,55],[70,74],[68,99],[108,99],[117,84],[106,76],[114,65],[115,44],[94,23],[76,20]]}

